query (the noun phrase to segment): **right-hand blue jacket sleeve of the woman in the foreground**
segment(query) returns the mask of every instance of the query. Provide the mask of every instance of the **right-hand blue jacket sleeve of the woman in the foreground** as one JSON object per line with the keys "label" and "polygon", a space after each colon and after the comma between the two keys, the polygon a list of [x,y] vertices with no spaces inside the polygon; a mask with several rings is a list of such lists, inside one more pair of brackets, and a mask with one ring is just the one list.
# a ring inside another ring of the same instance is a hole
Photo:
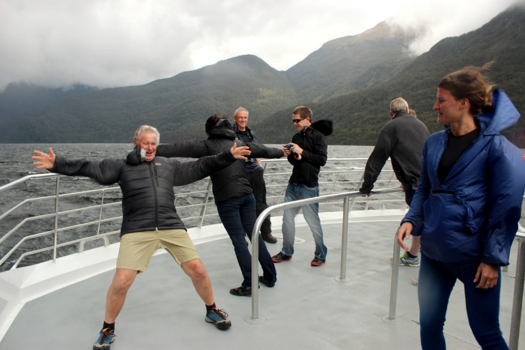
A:
{"label": "right-hand blue jacket sleeve of the woman in the foreground", "polygon": [[521,217],[525,162],[520,150],[495,137],[488,156],[489,214],[482,239],[482,262],[506,266]]}

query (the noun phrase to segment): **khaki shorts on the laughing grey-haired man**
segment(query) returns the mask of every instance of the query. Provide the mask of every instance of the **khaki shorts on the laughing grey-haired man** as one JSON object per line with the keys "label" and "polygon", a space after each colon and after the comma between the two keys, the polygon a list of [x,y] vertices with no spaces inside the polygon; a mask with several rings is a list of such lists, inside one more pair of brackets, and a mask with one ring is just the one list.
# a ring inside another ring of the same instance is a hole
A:
{"label": "khaki shorts on the laughing grey-haired man", "polygon": [[177,264],[198,259],[197,250],[183,229],[131,232],[120,238],[117,269],[144,272],[155,249],[164,248]]}

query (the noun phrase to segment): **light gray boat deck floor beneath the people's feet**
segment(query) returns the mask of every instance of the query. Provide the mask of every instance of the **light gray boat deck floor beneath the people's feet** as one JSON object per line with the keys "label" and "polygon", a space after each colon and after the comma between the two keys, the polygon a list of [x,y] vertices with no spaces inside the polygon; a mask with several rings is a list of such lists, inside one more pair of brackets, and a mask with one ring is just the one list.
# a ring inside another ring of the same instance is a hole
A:
{"label": "light gray boat deck floor beneath the people's feet", "polygon": [[[276,264],[275,288],[261,286],[259,316],[265,322],[245,321],[251,298],[233,296],[241,282],[228,239],[197,246],[212,279],[218,307],[225,309],[232,328],[219,331],[204,321],[204,303],[191,280],[169,254],[152,258],[148,271],[132,285],[116,323],[112,350],[133,349],[418,349],[417,288],[411,280],[417,268],[400,268],[397,320],[382,321],[388,313],[392,242],[398,222],[351,224],[346,277],[339,282],[341,227],[325,225],[327,264],[310,267],[313,239],[298,228],[296,254]],[[279,236],[279,232],[276,232]],[[268,244],[271,254],[280,241]],[[500,322],[509,337],[516,246],[511,265],[502,274]],[[104,315],[106,291],[113,271],[71,285],[27,303],[5,335],[0,349],[91,349]],[[521,335],[525,321],[521,323]],[[445,325],[448,349],[479,348],[467,317],[463,284],[450,297]],[[525,349],[521,340],[521,349]]]}

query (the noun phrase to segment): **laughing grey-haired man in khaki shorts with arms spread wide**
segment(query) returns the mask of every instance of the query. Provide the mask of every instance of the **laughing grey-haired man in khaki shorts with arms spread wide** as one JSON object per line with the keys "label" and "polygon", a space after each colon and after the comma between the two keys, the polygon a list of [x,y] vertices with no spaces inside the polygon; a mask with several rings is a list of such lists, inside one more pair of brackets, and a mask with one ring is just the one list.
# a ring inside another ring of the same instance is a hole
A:
{"label": "laughing grey-haired man in khaki shorts with arms spread wide", "polygon": [[70,175],[87,176],[102,185],[118,183],[122,190],[122,226],[117,270],[108,290],[106,316],[94,350],[108,350],[115,339],[115,320],[125,296],[139,272],[148,268],[157,248],[171,253],[184,272],[192,279],[195,290],[206,304],[205,321],[220,330],[231,326],[228,314],[215,306],[212,284],[198,257],[186,228],[174,207],[173,186],[182,186],[202,179],[237,159],[246,159],[247,147],[233,146],[228,151],[197,161],[178,162],[155,156],[159,132],[148,125],[135,131],[133,144],[144,162],[127,164],[124,160],[93,161],[86,158],[69,160],[34,151],[38,169]]}

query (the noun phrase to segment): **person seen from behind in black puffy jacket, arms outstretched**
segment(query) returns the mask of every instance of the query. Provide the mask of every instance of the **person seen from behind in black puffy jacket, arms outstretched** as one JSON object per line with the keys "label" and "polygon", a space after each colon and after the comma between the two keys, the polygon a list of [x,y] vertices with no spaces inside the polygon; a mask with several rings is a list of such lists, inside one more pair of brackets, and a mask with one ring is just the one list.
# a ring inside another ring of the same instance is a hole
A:
{"label": "person seen from behind in black puffy jacket, arms outstretched", "polygon": [[[252,157],[279,158],[284,155],[281,149],[271,149],[261,144],[244,143],[238,140],[229,120],[217,114],[206,120],[204,132],[207,136],[206,140],[176,141],[173,144],[159,145],[158,152],[166,157],[200,158],[223,153],[235,140],[239,145],[248,146]],[[136,152],[131,152],[128,154],[127,161],[130,164],[137,164],[140,163],[140,157]],[[237,296],[251,296],[251,254],[246,246],[245,237],[247,233],[251,240],[256,220],[255,197],[244,164],[245,162],[241,161],[233,162],[210,175],[217,213],[232,240],[240,272],[243,275],[240,287],[230,289],[230,293]],[[259,282],[271,288],[277,282],[277,272],[260,235],[257,241],[262,268]],[[254,288],[258,288],[258,285]]]}

